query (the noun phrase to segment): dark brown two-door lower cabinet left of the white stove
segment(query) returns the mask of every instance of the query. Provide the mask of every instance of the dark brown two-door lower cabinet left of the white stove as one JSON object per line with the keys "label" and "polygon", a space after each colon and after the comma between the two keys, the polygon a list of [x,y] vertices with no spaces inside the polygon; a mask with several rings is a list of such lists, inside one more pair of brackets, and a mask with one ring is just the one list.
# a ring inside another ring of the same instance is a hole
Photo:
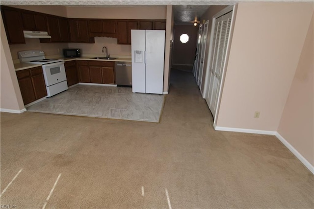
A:
{"label": "dark brown two-door lower cabinet left of the white stove", "polygon": [[24,104],[29,104],[47,96],[42,67],[16,72]]}

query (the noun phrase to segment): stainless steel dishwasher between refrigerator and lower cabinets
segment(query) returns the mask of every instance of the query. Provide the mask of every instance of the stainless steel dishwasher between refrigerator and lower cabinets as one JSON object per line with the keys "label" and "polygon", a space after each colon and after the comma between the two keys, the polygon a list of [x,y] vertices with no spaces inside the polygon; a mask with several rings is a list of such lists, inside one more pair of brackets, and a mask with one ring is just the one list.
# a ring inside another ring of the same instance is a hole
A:
{"label": "stainless steel dishwasher between refrigerator and lower cabinets", "polygon": [[116,62],[116,82],[117,85],[132,85],[131,62]]}

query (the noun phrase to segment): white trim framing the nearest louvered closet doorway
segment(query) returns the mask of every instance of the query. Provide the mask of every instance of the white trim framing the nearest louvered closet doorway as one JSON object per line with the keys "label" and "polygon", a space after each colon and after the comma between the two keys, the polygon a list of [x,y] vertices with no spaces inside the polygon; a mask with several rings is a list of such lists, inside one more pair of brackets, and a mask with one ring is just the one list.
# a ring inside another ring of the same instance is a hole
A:
{"label": "white trim framing the nearest louvered closet doorway", "polygon": [[[220,12],[218,12],[217,14],[215,14],[212,17],[212,23],[214,23],[215,19],[217,19],[218,17],[233,11],[232,13],[232,20],[231,20],[231,26],[230,26],[230,36],[229,36],[229,40],[227,43],[227,50],[226,50],[226,59],[224,61],[224,67],[223,67],[223,72],[222,72],[222,78],[221,78],[221,83],[220,86],[218,87],[218,98],[217,98],[217,107],[216,107],[216,111],[215,111],[215,115],[213,115],[214,117],[214,127],[216,127],[216,120],[217,120],[217,116],[219,114],[219,105],[220,105],[220,100],[221,100],[221,94],[223,91],[223,85],[225,82],[225,76],[226,76],[226,69],[228,66],[228,61],[229,61],[229,54],[230,54],[230,48],[231,48],[231,42],[232,42],[232,37],[233,37],[233,31],[234,31],[234,26],[235,26],[235,15],[236,15],[236,10],[237,10],[237,3],[235,5],[230,5],[227,6],[226,8],[222,9]],[[211,25],[211,32],[214,31],[214,24]],[[210,33],[211,34],[211,33]],[[209,94],[209,85],[210,85],[210,62],[211,62],[211,52],[212,52],[212,47],[213,47],[213,35],[210,35],[210,42],[209,42],[209,54],[208,54],[208,61],[207,61],[207,65],[206,65],[206,74],[205,74],[205,83],[204,83],[204,94],[203,94],[203,98],[205,99],[206,96]]]}

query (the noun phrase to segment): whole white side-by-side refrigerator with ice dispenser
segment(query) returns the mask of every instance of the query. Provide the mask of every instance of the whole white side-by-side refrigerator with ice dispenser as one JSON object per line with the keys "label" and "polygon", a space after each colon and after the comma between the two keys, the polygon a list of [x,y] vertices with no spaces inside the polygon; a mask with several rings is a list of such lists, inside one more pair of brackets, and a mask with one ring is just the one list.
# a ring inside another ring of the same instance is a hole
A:
{"label": "whole white side-by-side refrigerator with ice dispenser", "polygon": [[165,30],[131,30],[132,92],[162,94]]}

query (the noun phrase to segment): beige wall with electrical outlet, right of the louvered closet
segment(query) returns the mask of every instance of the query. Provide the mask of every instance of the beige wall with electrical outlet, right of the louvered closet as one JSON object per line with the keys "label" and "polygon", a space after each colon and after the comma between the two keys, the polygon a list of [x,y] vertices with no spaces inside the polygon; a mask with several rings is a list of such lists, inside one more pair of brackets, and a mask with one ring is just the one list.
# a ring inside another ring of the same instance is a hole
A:
{"label": "beige wall with electrical outlet, right of the louvered closet", "polygon": [[277,131],[313,8],[299,2],[238,4],[218,127]]}

